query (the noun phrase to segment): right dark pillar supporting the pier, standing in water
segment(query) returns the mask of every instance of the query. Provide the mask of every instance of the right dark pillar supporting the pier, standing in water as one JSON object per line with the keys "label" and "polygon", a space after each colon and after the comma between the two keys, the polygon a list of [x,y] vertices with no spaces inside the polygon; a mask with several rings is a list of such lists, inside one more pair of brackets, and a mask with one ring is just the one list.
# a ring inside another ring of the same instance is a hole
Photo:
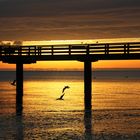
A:
{"label": "right dark pillar supporting the pier, standing in water", "polygon": [[84,61],[84,103],[85,110],[92,108],[92,62]]}

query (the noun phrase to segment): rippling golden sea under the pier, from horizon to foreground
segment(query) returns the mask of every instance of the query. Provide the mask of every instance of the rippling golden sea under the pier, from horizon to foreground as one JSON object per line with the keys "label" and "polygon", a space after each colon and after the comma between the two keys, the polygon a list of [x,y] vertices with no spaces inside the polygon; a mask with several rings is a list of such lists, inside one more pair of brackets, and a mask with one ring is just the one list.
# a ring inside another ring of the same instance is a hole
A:
{"label": "rippling golden sea under the pier, from horizon to foreground", "polygon": [[88,111],[83,71],[24,71],[21,115],[15,77],[0,71],[0,140],[140,139],[140,69],[94,70]]}

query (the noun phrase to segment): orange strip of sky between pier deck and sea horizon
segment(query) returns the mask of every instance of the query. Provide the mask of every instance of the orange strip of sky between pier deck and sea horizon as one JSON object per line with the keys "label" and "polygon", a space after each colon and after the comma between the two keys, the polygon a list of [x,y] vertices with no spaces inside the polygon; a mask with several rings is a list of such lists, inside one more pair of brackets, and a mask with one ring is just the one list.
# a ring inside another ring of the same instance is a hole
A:
{"label": "orange strip of sky between pier deck and sea horizon", "polygon": [[[15,64],[5,64],[0,62],[2,69],[15,69]],[[84,64],[78,61],[45,61],[35,64],[25,64],[26,70],[82,70]],[[92,63],[93,68],[140,68],[140,60],[115,60],[98,61]]]}

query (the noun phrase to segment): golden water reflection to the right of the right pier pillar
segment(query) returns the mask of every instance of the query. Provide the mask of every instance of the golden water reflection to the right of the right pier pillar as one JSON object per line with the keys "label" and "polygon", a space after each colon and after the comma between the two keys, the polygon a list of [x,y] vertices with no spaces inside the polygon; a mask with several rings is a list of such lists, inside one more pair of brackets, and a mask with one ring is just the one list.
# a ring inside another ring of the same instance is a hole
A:
{"label": "golden water reflection to the right of the right pier pillar", "polygon": [[139,82],[93,82],[93,109],[139,109]]}

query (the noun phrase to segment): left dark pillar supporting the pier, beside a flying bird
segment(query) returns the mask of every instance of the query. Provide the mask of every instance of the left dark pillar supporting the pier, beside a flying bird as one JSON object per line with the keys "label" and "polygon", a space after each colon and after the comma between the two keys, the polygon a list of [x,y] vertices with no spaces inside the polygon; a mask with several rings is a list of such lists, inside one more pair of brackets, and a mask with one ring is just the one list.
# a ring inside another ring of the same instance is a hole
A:
{"label": "left dark pillar supporting the pier, beside a flying bird", "polygon": [[16,114],[23,109],[23,63],[16,63]]}

